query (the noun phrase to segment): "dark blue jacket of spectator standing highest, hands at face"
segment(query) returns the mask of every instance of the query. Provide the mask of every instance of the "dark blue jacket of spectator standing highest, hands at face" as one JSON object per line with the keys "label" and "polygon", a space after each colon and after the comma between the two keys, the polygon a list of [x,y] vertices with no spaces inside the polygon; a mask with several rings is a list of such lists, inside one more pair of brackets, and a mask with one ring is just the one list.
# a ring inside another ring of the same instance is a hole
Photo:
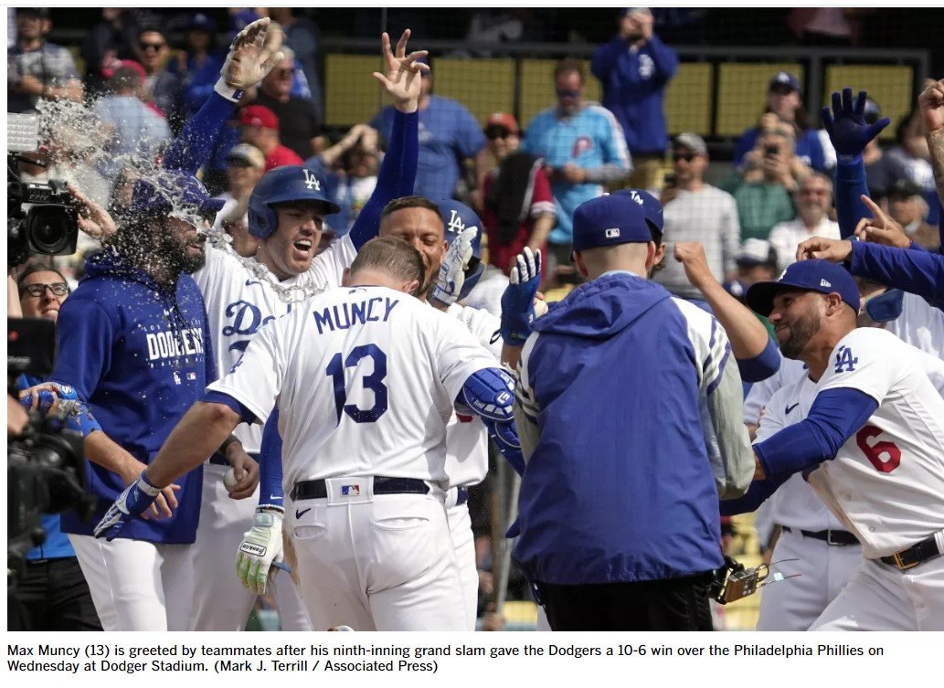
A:
{"label": "dark blue jacket of spectator standing highest, hands at face", "polygon": [[590,71],[603,87],[603,107],[616,117],[632,155],[662,155],[668,145],[663,99],[679,56],[653,36],[639,50],[618,36],[600,45]]}

